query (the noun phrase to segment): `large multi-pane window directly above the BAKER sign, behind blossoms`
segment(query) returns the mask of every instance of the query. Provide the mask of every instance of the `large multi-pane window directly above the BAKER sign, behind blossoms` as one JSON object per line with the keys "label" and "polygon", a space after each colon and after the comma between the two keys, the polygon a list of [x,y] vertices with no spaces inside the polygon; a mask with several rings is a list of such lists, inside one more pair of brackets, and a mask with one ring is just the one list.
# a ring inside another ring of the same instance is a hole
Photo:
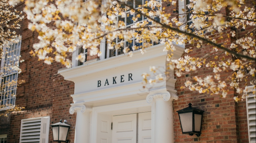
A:
{"label": "large multi-pane window directly above the BAKER sign, behind blossoms", "polygon": [[[139,9],[141,7],[139,7],[139,5],[143,5],[146,3],[146,1],[149,1],[149,0],[130,0],[130,1],[126,1],[126,4],[129,5],[129,7],[131,8],[135,8],[135,9]],[[125,5],[121,5],[122,8],[125,8],[126,6]],[[148,9],[152,10],[150,7],[147,7]],[[155,9],[154,9],[155,10]],[[134,22],[132,20],[133,17],[136,17],[138,15],[138,13],[134,13],[133,15],[131,15],[129,12],[130,12],[130,9],[127,10],[126,8],[126,16],[123,18],[121,17],[120,15],[118,15],[116,17],[116,23],[118,23],[119,21],[123,21],[125,24],[126,24],[126,27],[129,28],[131,27],[132,25],[134,25],[135,23],[139,23],[139,22],[143,22],[147,19],[146,16],[143,16],[143,15],[140,15],[140,17],[138,18],[138,21]],[[160,19],[159,19],[159,16],[155,16],[153,17],[156,21],[159,21],[160,22]],[[151,24],[151,22],[149,22],[149,25]],[[133,46],[142,46],[143,43],[139,43],[139,42],[136,42],[136,38],[133,37],[132,39],[129,39],[129,40],[123,40],[123,39],[119,39],[118,37],[113,41],[114,43],[118,44],[118,45],[121,45],[120,48],[118,49],[112,49],[112,50],[109,50],[107,48],[107,44],[105,45],[105,58],[109,58],[109,57],[114,57],[116,55],[121,55],[123,54],[123,49],[124,48],[129,48],[129,51],[133,51],[132,47]],[[153,43],[153,45],[156,45],[158,43]],[[136,49],[138,50],[138,49]]]}

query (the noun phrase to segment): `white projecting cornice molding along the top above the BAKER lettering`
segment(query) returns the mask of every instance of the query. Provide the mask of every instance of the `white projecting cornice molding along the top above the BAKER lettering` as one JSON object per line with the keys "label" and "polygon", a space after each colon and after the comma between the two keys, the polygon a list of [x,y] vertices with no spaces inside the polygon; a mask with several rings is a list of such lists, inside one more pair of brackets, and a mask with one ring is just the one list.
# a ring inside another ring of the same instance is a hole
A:
{"label": "white projecting cornice molding along the top above the BAKER lettering", "polygon": [[[173,52],[173,57],[180,58],[184,51],[184,48],[178,45],[174,46],[176,47],[176,50]],[[168,52],[162,51],[164,47],[165,45],[159,44],[147,48],[147,53],[144,55],[141,55],[138,50],[133,52],[133,58],[126,56],[127,54],[122,54],[111,58],[102,59],[96,62],[84,64],[78,67],[59,70],[58,73],[64,76],[65,80],[79,81],[84,80],[83,78],[81,78],[82,75],[97,74],[97,72],[106,71],[107,69],[114,69],[128,64],[139,63],[139,61],[149,61],[153,58],[164,57],[163,59],[159,59],[161,62],[163,62],[162,60],[166,61],[166,55],[168,54]],[[113,63],[115,64],[113,65]]]}

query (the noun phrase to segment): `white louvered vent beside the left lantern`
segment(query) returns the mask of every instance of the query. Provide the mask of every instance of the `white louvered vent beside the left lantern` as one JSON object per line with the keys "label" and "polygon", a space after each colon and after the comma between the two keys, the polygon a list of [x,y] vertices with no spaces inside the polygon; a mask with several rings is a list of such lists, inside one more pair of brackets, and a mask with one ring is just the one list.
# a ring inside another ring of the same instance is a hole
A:
{"label": "white louvered vent beside the left lantern", "polygon": [[21,120],[20,143],[48,143],[50,117]]}

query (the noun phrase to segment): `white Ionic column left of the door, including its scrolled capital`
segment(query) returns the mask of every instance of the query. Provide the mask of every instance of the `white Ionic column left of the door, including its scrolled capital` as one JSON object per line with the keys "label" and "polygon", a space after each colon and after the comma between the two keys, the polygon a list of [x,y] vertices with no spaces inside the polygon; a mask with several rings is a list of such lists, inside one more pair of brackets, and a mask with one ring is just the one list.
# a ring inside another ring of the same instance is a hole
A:
{"label": "white Ionic column left of the door, including its scrolled capital", "polygon": [[72,106],[69,109],[70,114],[76,112],[75,143],[90,142],[90,111],[92,108],[84,104]]}

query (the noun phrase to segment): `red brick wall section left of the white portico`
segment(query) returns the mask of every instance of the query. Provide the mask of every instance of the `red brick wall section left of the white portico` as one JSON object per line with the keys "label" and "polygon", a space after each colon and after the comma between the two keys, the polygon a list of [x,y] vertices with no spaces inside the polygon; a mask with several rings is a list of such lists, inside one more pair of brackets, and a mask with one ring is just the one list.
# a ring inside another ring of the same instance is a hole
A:
{"label": "red brick wall section left of the white portico", "polygon": [[[16,9],[21,11],[23,7],[22,3],[16,6]],[[20,54],[21,59],[25,61],[20,63],[22,73],[18,75],[18,80],[26,82],[17,89],[16,105],[25,109],[12,113],[9,118],[1,117],[0,135],[9,131],[8,142],[19,142],[22,119],[50,116],[50,124],[59,122],[60,119],[68,120],[68,124],[71,125],[68,139],[74,142],[76,114],[69,114],[70,103],[72,103],[70,95],[74,94],[74,83],[65,81],[57,74],[58,70],[64,67],[60,63],[54,62],[47,65],[43,61],[38,61],[37,57],[31,57],[29,52],[33,50],[33,44],[38,42],[38,34],[27,28],[28,19],[23,19],[21,25],[17,33],[22,35]],[[67,58],[71,59],[71,54]],[[6,124],[3,124],[5,122]],[[49,142],[53,142],[51,130],[49,133]]]}

